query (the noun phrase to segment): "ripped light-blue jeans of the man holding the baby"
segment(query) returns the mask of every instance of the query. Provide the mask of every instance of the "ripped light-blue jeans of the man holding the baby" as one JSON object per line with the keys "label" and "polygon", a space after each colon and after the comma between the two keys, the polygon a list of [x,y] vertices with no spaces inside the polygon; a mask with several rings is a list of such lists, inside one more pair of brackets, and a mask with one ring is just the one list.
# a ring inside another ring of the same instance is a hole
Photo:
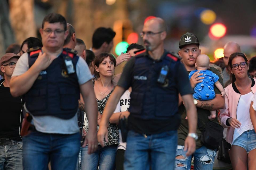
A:
{"label": "ripped light-blue jeans of the man holding the baby", "polygon": [[190,170],[191,160],[194,157],[194,170],[212,170],[213,162],[216,156],[216,151],[207,149],[205,146],[195,150],[194,154],[186,156],[187,151],[184,151],[184,146],[177,146],[177,156],[182,158],[175,158],[175,170]]}

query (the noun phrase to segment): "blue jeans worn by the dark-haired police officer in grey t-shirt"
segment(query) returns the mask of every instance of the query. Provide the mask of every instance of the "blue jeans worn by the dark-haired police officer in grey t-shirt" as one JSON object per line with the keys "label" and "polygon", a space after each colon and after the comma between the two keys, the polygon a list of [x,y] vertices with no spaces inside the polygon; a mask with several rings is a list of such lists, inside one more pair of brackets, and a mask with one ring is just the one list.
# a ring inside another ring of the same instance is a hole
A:
{"label": "blue jeans worn by the dark-haired police officer in grey t-shirt", "polygon": [[47,134],[33,131],[23,137],[23,168],[45,170],[75,169],[80,150],[80,133],[71,135]]}

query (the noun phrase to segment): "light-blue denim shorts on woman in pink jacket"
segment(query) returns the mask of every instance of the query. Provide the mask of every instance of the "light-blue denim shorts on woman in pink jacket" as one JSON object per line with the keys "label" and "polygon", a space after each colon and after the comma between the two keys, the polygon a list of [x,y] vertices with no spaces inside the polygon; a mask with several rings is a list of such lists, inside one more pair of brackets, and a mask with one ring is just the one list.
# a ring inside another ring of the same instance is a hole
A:
{"label": "light-blue denim shorts on woman in pink jacket", "polygon": [[[254,130],[247,130],[243,132],[232,145],[237,145],[245,148],[247,153],[256,148],[256,134]],[[231,146],[232,147],[232,146]]]}

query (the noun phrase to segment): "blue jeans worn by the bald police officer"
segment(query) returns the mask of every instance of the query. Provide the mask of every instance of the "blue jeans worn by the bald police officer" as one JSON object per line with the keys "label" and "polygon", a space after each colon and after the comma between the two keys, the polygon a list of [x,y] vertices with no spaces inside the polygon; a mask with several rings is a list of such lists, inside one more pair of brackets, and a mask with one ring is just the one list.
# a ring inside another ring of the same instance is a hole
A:
{"label": "blue jeans worn by the bald police officer", "polygon": [[177,148],[177,130],[144,136],[129,131],[124,169],[173,170]]}

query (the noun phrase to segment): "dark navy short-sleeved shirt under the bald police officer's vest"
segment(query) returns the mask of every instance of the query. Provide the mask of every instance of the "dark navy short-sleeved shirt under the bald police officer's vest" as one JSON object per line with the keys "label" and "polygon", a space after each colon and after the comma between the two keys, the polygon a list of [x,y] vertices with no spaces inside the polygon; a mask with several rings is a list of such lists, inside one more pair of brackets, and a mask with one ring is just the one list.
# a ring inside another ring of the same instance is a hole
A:
{"label": "dark navy short-sleeved shirt under the bald police officer's vest", "polygon": [[[160,60],[154,60],[146,53],[142,53],[140,55],[144,55],[144,57],[147,57],[147,59],[149,59],[150,62],[155,63],[155,62],[163,62],[163,58],[167,54],[168,52],[165,50]],[[135,56],[135,57],[138,57],[138,56]],[[135,57],[131,57],[127,62],[127,64],[123,68],[122,75],[117,84],[117,86],[120,86],[125,90],[127,90],[130,86],[132,86],[131,83],[132,83],[133,77],[135,76],[133,73],[133,68],[135,65]],[[176,67],[177,71],[176,71],[175,79],[177,83],[176,87],[177,87],[178,93],[180,93],[181,96],[186,94],[193,94],[193,90],[191,88],[191,85],[187,76],[187,71],[184,65],[180,61],[178,61],[177,64],[178,65]],[[166,107],[168,107],[168,105]],[[180,125],[180,119],[181,119],[180,114],[174,114],[172,117],[163,119],[163,120],[156,120],[156,119],[145,120],[145,119],[137,118],[133,116],[133,113],[131,113],[130,116],[128,117],[128,128],[129,130],[133,130],[141,134],[149,134],[149,135],[157,134],[157,133],[166,132],[170,130],[177,130]]]}

